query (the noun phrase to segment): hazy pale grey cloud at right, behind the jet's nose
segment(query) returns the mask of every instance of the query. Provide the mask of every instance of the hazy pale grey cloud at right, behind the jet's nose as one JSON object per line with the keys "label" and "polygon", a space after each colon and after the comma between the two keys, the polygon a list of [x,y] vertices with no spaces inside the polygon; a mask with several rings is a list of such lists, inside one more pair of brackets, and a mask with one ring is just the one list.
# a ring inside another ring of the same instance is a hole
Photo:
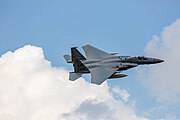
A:
{"label": "hazy pale grey cloud at right, behind the jet's nose", "polygon": [[145,48],[147,56],[162,58],[165,62],[139,70],[143,84],[150,88],[156,101],[169,111],[177,110],[177,106],[180,105],[179,52],[180,20],[176,20],[165,27],[160,36],[153,36]]}

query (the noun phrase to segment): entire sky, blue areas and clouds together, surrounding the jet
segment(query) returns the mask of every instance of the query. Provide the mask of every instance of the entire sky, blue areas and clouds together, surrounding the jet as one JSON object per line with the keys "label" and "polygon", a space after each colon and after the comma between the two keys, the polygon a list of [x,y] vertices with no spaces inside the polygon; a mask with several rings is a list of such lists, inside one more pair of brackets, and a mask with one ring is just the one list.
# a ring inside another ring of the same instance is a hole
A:
{"label": "entire sky, blue areas and clouds together, surrounding the jet", "polygon": [[[179,11],[178,0],[0,0],[0,119],[180,119]],[[85,44],[165,62],[72,83],[62,56]]]}

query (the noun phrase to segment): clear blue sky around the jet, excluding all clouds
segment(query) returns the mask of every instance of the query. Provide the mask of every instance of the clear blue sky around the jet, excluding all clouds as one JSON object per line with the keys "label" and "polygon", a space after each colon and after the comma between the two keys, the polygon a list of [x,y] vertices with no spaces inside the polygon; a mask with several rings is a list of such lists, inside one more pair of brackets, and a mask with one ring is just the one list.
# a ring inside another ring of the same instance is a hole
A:
{"label": "clear blue sky around the jet, excluding all clouds", "polygon": [[[178,0],[1,0],[0,55],[31,44],[42,47],[53,66],[67,69],[71,66],[62,55],[87,43],[122,55],[144,55],[147,42],[180,18],[179,11]],[[134,69],[126,73],[109,85],[127,89],[139,112],[157,104]]]}

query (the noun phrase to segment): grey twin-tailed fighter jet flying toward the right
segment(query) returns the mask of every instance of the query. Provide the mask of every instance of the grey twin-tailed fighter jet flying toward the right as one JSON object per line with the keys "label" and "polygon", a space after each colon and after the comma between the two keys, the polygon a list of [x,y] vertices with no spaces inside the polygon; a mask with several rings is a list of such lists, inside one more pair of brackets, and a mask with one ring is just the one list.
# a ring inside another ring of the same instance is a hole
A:
{"label": "grey twin-tailed fighter jet flying toward the right", "polygon": [[91,83],[100,85],[106,79],[126,77],[121,72],[144,64],[156,64],[164,62],[157,58],[144,56],[116,56],[117,53],[107,53],[89,44],[82,46],[86,57],[77,47],[71,48],[71,56],[66,54],[67,63],[72,63],[74,72],[69,73],[69,80],[75,81],[83,74],[91,74]]}

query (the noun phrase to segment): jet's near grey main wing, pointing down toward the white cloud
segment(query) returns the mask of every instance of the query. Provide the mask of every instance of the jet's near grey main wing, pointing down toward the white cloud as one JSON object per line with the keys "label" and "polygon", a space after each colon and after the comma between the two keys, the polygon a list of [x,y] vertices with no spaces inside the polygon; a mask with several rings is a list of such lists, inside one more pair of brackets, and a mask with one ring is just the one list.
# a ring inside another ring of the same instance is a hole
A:
{"label": "jet's near grey main wing, pointing down toward the white cloud", "polygon": [[111,75],[113,75],[118,68],[113,68],[112,66],[101,66],[89,70],[91,72],[91,83],[100,85]]}

